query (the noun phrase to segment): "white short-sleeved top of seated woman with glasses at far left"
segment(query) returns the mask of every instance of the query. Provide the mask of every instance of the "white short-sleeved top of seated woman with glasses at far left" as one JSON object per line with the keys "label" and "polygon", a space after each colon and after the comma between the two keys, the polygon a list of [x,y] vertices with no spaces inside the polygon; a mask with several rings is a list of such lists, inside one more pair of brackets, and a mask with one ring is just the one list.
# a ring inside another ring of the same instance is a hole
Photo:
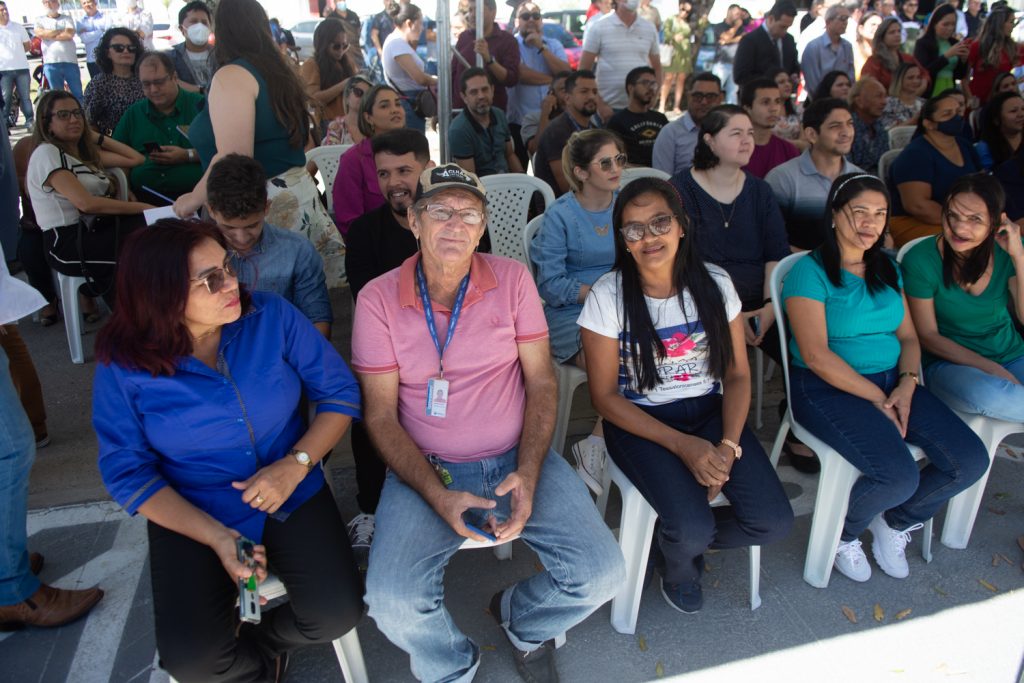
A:
{"label": "white short-sleeved top of seated woman with glasses at far left", "polygon": [[44,230],[78,222],[79,212],[75,205],[58,191],[44,185],[54,171],[67,169],[75,174],[82,186],[93,197],[105,197],[111,189],[111,181],[103,173],[94,171],[78,159],[60,152],[55,145],[43,142],[29,158],[26,182],[29,198],[36,211],[36,223]]}

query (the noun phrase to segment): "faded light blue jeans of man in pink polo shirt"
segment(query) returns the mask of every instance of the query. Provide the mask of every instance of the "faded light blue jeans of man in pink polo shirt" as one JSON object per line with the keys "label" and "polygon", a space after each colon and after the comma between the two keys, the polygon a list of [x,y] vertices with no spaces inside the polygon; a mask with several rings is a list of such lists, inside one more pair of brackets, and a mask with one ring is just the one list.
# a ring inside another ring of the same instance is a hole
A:
{"label": "faded light blue jeans of man in pink polo shirt", "polygon": [[[451,488],[497,501],[490,512],[499,521],[508,518],[511,496],[499,498],[495,488],[515,471],[515,449],[478,462],[436,462],[452,474]],[[465,517],[483,526],[482,513],[470,510]],[[444,607],[444,566],[464,540],[415,489],[388,473],[377,506],[366,602],[381,632],[409,653],[421,681],[470,681],[479,666],[479,649]],[[553,451],[541,469],[522,540],[545,569],[502,598],[503,627],[519,649],[532,650],[575,626],[626,581],[618,545],[583,481]]]}

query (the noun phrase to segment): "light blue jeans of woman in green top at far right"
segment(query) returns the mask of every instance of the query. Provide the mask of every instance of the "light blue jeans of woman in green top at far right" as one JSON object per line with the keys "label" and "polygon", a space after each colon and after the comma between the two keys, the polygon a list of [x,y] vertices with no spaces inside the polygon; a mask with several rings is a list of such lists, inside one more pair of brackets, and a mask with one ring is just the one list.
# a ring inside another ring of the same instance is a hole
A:
{"label": "light blue jeans of woman in green top at far right", "polygon": [[1002,367],[1021,384],[946,360],[929,365],[925,369],[925,382],[932,393],[955,411],[1024,422],[1024,356]]}

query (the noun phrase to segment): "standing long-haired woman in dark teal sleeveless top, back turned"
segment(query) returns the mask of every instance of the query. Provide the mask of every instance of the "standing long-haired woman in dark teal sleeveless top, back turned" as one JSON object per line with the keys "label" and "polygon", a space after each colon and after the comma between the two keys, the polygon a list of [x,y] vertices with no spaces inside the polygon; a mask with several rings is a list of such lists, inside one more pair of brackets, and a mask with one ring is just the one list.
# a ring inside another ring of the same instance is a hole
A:
{"label": "standing long-haired woman in dark teal sleeveless top, back turned", "polygon": [[344,245],[305,170],[310,126],[305,88],[273,42],[256,0],[221,0],[215,25],[216,58],[224,66],[210,83],[207,108],[188,129],[207,172],[178,198],[174,211],[184,217],[203,206],[210,166],[219,159],[252,157],[269,178],[267,222],[308,238],[324,259],[328,287],[339,287]]}

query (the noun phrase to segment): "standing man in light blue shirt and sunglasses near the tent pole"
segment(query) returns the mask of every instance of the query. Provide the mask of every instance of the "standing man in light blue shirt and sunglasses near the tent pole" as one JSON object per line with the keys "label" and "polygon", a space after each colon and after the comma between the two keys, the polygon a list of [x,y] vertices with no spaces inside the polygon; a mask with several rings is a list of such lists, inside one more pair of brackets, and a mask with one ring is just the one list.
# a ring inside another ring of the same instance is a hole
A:
{"label": "standing man in light blue shirt and sunglasses near the tent pole", "polygon": [[519,165],[526,168],[529,155],[522,140],[522,124],[530,113],[540,112],[554,74],[571,71],[565,48],[544,35],[541,8],[524,2],[516,10],[516,42],[519,43],[519,83],[509,88],[509,129]]}

